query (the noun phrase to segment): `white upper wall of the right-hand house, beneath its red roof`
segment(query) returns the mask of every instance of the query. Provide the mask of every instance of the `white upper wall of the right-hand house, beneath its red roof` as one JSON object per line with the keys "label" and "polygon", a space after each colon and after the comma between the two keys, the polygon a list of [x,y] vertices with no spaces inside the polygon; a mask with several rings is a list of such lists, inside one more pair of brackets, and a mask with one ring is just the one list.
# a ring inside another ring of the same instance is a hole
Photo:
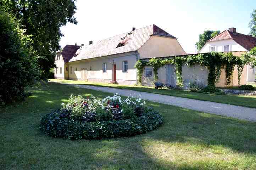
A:
{"label": "white upper wall of the right-hand house, beneath its red roof", "polygon": [[224,46],[229,45],[229,51],[247,51],[244,47],[236,43],[233,39],[217,40],[206,42],[200,53],[210,52],[210,47],[215,47],[216,52],[224,52]]}

